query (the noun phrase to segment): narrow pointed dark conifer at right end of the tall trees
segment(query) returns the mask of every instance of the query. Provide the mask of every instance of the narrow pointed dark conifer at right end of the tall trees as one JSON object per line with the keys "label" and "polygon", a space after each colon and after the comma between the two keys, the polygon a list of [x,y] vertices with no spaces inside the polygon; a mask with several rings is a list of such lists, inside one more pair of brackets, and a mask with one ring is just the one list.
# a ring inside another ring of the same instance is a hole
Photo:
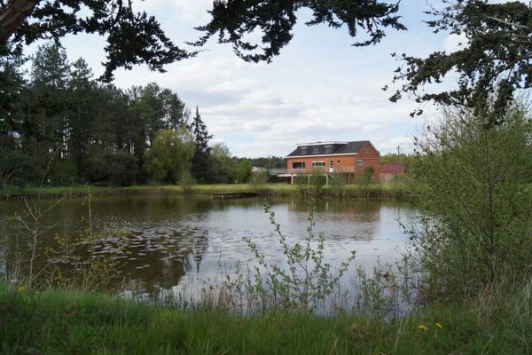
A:
{"label": "narrow pointed dark conifer at right end of the tall trees", "polygon": [[196,151],[192,159],[192,176],[200,182],[208,182],[212,176],[208,162],[210,156],[208,141],[213,136],[208,134],[207,126],[201,120],[198,106],[196,106],[196,114],[192,118],[191,131],[196,144]]}

